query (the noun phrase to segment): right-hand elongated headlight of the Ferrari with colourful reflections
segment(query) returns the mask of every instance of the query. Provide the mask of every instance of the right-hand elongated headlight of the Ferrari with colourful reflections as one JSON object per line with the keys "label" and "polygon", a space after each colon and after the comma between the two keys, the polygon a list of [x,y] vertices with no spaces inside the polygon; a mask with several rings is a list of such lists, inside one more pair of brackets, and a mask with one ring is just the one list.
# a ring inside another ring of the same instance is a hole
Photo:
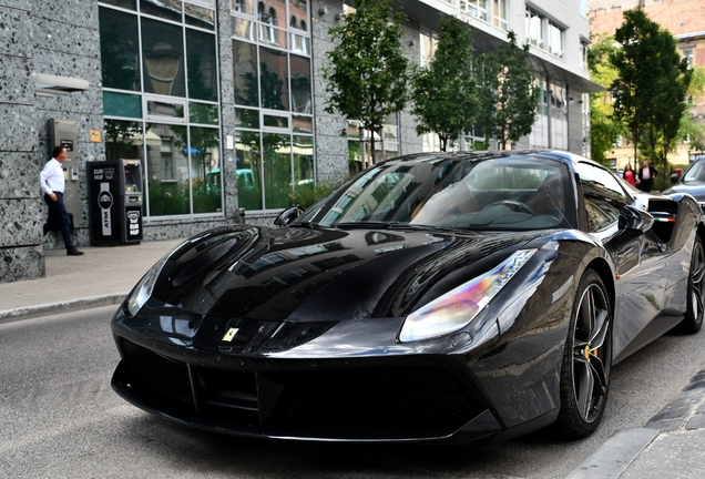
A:
{"label": "right-hand elongated headlight of the Ferrari with colourful reflections", "polygon": [[470,324],[537,249],[520,249],[494,269],[446,293],[407,316],[399,340],[409,343],[456,332]]}

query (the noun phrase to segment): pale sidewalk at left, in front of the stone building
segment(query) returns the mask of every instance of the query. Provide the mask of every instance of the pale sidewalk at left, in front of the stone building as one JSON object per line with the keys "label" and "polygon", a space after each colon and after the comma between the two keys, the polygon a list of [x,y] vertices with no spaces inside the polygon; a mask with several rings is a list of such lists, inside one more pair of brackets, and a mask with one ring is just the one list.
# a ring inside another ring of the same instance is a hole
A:
{"label": "pale sidewalk at left, in front of the stone building", "polygon": [[45,251],[47,276],[0,283],[0,323],[117,305],[142,275],[183,240]]}

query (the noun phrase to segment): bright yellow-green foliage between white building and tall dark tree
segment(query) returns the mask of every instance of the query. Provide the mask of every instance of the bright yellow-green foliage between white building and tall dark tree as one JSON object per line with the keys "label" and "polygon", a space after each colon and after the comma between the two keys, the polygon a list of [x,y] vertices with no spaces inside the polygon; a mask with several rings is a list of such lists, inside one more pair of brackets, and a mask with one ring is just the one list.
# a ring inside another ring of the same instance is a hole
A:
{"label": "bright yellow-green foliage between white building and tall dark tree", "polygon": [[[588,67],[591,79],[604,88],[610,88],[616,78],[616,70],[610,63],[610,54],[614,49],[613,37],[592,39],[593,45],[588,51]],[[590,95],[590,151],[592,159],[607,165],[606,152],[612,150],[622,133],[622,124],[613,119],[612,100],[607,91]]]}

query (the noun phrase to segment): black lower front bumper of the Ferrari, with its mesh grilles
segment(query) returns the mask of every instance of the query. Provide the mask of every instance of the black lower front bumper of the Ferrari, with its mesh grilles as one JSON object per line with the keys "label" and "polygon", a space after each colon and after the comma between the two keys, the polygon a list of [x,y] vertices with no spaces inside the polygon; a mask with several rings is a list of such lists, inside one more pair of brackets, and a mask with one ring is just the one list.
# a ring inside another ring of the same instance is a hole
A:
{"label": "black lower front bumper of the Ferrari, with its mesh grilles", "polygon": [[112,386],[202,429],[303,440],[470,442],[501,431],[467,377],[432,357],[184,363],[125,338]]}

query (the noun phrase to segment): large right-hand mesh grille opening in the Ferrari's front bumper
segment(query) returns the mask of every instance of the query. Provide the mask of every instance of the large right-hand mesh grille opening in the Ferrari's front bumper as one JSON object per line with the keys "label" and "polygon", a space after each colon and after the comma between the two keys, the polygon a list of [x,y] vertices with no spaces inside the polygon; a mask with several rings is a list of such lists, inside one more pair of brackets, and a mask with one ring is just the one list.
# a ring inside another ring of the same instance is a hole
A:
{"label": "large right-hand mesh grille opening in the Ferrari's front bumper", "polygon": [[435,369],[294,375],[285,384],[279,412],[293,426],[442,434],[473,417],[460,385]]}

